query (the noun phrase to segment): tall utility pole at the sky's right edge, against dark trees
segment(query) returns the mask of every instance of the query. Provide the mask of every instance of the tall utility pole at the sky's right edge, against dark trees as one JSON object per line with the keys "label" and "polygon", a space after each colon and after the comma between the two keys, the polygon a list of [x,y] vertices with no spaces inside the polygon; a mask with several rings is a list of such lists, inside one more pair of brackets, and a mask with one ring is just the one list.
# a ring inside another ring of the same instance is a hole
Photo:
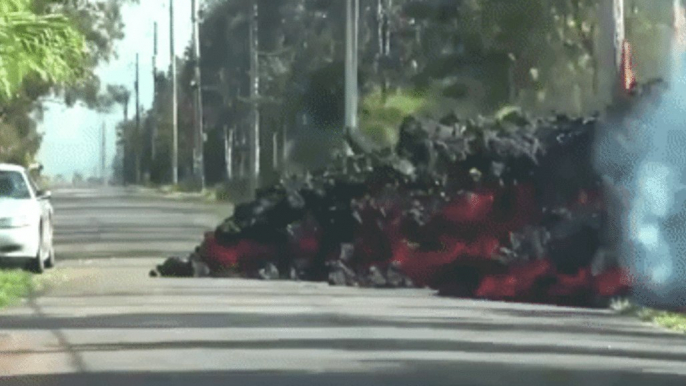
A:
{"label": "tall utility pole at the sky's right edge, against dark trees", "polygon": [[205,189],[205,160],[203,157],[205,132],[203,130],[202,82],[200,74],[200,27],[198,25],[198,0],[191,0],[193,22],[193,65],[195,67],[195,175],[200,189]]}

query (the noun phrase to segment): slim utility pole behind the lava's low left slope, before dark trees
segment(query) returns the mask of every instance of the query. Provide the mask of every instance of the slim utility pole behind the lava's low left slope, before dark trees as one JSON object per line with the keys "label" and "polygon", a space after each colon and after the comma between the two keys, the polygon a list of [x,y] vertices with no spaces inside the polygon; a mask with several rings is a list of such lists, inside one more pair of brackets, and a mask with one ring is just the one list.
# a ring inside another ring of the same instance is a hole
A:
{"label": "slim utility pole behind the lava's low left slope, before dark trees", "polygon": [[250,104],[251,128],[249,130],[250,153],[248,168],[250,171],[250,194],[255,193],[260,183],[260,56],[259,56],[259,8],[257,0],[252,0],[250,16]]}

